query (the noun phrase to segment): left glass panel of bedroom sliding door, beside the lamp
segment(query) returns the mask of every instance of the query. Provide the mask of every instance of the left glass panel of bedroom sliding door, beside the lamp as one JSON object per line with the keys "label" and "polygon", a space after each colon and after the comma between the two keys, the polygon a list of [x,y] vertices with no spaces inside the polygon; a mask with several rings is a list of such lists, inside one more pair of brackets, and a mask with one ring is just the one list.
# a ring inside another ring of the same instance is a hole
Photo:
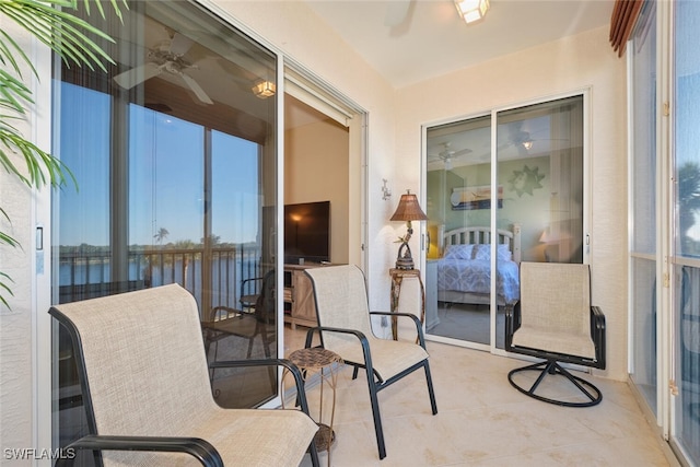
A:
{"label": "left glass panel of bedroom sliding door, beside the lamp", "polygon": [[490,345],[491,117],[429,128],[428,231],[438,313],[429,335]]}

